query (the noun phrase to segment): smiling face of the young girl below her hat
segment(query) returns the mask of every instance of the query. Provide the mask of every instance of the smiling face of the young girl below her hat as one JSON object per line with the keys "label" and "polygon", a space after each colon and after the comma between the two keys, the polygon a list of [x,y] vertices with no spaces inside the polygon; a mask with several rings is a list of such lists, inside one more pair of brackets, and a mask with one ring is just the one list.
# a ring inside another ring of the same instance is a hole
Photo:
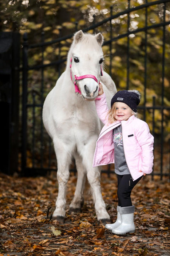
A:
{"label": "smiling face of the young girl below her hat", "polygon": [[131,108],[123,102],[116,104],[115,119],[118,121],[127,120],[132,115]]}

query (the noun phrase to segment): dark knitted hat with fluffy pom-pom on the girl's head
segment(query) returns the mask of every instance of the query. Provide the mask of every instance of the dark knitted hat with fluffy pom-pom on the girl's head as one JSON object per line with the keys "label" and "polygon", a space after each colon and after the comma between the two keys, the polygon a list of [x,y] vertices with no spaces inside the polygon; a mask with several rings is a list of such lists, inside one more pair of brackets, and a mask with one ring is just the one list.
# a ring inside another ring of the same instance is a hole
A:
{"label": "dark knitted hat with fluffy pom-pom on the girl's head", "polygon": [[111,99],[111,107],[115,102],[123,102],[136,113],[137,105],[140,103],[140,98],[141,94],[137,90],[118,91]]}

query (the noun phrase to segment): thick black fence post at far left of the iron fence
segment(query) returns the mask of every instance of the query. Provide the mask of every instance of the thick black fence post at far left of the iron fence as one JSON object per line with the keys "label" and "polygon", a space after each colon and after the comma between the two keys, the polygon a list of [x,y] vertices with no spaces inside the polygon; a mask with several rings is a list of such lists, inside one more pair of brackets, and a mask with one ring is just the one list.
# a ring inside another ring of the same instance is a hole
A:
{"label": "thick black fence post at far left of the iron fence", "polygon": [[22,69],[22,175],[25,174],[27,163],[27,68],[28,68],[28,40],[27,33],[23,36],[23,69]]}

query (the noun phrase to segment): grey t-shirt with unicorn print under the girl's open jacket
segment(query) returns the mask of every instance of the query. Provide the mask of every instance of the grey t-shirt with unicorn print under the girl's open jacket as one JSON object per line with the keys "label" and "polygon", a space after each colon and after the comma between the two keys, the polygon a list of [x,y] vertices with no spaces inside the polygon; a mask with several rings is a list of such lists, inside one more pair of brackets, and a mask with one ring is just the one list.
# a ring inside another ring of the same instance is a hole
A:
{"label": "grey t-shirt with unicorn print under the girl's open jacket", "polygon": [[123,149],[122,125],[113,129],[114,157],[115,157],[115,173],[119,175],[130,174],[126,164]]}

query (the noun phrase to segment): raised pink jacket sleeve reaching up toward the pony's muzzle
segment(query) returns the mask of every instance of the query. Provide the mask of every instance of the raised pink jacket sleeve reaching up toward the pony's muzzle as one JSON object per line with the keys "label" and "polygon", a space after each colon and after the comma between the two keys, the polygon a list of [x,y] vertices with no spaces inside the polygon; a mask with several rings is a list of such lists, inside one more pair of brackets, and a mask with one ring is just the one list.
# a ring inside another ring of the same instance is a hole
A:
{"label": "raised pink jacket sleeve reaching up toward the pony's muzzle", "polygon": [[99,99],[95,99],[95,106],[98,117],[100,118],[103,124],[106,124],[108,121],[107,113],[109,109],[107,106],[105,93],[100,95]]}

